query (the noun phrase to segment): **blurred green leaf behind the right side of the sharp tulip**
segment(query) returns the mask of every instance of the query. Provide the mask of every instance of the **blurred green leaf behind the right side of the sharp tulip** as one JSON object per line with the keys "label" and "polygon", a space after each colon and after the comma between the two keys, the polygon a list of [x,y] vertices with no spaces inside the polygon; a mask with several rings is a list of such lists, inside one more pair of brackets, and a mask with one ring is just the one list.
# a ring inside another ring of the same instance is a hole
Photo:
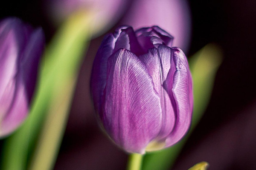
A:
{"label": "blurred green leaf behind the right side of the sharp tulip", "polygon": [[206,45],[190,58],[189,65],[193,79],[194,109],[189,133],[172,147],[147,153],[144,156],[143,170],[167,170],[172,167],[183,145],[207,108],[215,74],[221,65],[221,61],[221,49],[215,44]]}

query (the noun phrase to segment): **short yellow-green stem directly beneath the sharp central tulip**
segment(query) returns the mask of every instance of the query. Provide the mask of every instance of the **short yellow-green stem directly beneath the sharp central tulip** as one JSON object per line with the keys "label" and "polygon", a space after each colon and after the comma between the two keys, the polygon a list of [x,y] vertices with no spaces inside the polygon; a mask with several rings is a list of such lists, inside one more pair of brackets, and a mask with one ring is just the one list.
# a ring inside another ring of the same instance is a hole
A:
{"label": "short yellow-green stem directly beneath the sharp central tulip", "polygon": [[139,153],[132,153],[128,159],[127,170],[140,170],[142,167],[143,156],[144,155]]}

